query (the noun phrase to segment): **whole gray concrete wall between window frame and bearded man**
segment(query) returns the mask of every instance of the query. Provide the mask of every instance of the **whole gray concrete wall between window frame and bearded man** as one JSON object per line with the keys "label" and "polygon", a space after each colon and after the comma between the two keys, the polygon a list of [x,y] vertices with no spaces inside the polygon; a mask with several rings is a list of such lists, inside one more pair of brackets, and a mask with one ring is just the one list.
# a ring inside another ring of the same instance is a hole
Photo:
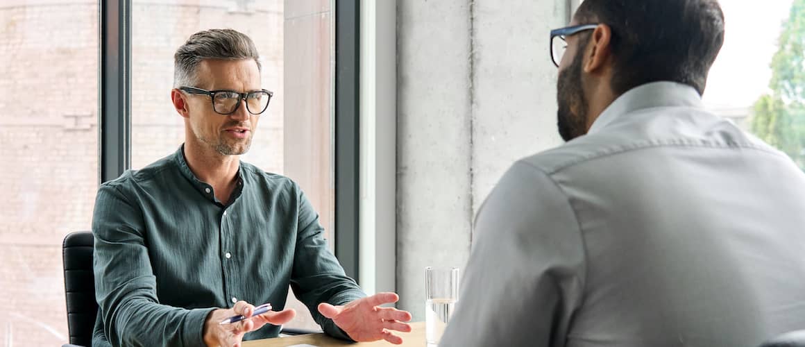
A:
{"label": "whole gray concrete wall between window frame and bearded man", "polygon": [[397,2],[397,290],[415,320],[424,267],[463,268],[503,172],[561,143],[548,32],[570,3]]}

